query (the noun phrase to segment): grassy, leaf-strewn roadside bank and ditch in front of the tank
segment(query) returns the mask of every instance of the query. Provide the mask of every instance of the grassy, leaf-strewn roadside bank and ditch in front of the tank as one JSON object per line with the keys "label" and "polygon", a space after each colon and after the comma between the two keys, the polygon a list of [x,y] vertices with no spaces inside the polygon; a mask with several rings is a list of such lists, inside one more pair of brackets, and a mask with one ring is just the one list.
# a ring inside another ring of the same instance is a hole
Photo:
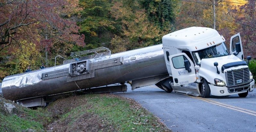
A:
{"label": "grassy, leaf-strewn roadside bank and ditch in front of the tank", "polygon": [[37,110],[20,108],[17,116],[0,114],[0,131],[170,131],[136,101],[112,94],[71,96]]}

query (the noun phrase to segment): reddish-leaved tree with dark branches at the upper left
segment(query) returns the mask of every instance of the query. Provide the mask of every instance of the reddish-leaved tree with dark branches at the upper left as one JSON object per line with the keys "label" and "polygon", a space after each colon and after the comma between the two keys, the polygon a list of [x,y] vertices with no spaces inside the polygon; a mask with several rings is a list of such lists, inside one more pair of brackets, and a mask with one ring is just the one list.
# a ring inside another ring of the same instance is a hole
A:
{"label": "reddish-leaved tree with dark branches at the upper left", "polygon": [[0,51],[19,52],[24,41],[25,47],[35,47],[32,52],[50,51],[59,43],[84,46],[84,35],[71,17],[80,10],[77,0],[1,0]]}

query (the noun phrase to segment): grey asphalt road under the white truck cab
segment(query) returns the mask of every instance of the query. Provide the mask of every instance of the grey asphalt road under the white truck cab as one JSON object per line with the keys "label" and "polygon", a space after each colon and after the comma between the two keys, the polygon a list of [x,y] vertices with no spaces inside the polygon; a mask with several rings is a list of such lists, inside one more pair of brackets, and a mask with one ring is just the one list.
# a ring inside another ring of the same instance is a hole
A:
{"label": "grey asphalt road under the white truck cab", "polygon": [[132,98],[159,117],[173,132],[256,132],[256,92],[201,98],[166,93],[155,85],[115,93]]}

